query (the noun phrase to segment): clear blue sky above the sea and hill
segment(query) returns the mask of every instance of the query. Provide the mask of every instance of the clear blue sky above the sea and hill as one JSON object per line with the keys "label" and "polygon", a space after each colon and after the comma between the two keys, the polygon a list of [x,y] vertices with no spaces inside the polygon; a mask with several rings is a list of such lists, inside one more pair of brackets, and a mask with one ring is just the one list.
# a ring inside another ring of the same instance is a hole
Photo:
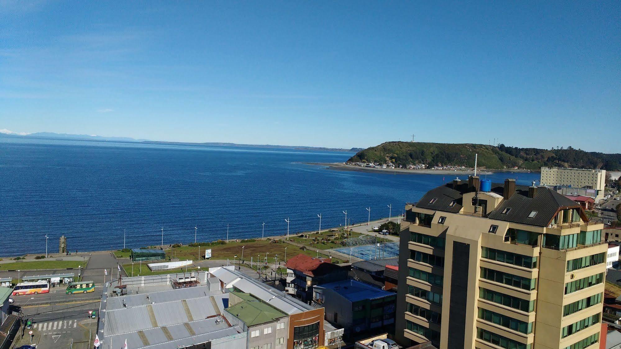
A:
{"label": "clear blue sky above the sea and hill", "polygon": [[0,0],[0,129],[621,152],[620,16],[618,1]]}

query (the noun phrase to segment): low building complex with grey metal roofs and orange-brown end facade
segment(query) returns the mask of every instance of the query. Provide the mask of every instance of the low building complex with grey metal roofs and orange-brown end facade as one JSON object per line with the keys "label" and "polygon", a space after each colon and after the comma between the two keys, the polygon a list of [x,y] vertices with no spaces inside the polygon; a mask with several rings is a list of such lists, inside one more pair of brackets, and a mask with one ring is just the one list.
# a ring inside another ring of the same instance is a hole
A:
{"label": "low building complex with grey metal roofs and orange-brown end facade", "polygon": [[[115,296],[119,289],[126,294]],[[338,345],[343,335],[324,320],[323,307],[233,266],[115,280],[101,304],[100,349],[125,340],[130,348],[315,349]]]}

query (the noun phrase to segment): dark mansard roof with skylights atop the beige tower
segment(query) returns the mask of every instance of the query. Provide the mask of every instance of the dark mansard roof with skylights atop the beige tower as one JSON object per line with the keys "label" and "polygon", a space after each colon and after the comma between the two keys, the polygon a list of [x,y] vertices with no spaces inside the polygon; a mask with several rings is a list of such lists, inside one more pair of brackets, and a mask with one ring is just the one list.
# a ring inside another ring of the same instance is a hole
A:
{"label": "dark mansard roof with skylights atop the beige tower", "polygon": [[[474,189],[468,187],[467,181],[458,184],[456,187],[453,189],[453,183],[448,183],[431,189],[420,199],[416,207],[458,213],[462,207],[463,194],[470,193]],[[504,184],[492,183],[491,191],[492,193],[502,195]],[[433,198],[436,200],[432,204],[430,202]],[[455,201],[453,207],[449,206],[451,201]],[[502,211],[507,207],[511,209],[509,213],[502,214]],[[515,186],[515,193],[508,200],[503,200],[487,217],[489,219],[504,220],[505,222],[545,227],[554,217],[556,211],[564,207],[578,208],[580,205],[543,186],[537,187],[537,194],[532,198],[528,197],[527,186]],[[532,211],[537,211],[537,215],[533,218],[528,218],[528,214]]]}

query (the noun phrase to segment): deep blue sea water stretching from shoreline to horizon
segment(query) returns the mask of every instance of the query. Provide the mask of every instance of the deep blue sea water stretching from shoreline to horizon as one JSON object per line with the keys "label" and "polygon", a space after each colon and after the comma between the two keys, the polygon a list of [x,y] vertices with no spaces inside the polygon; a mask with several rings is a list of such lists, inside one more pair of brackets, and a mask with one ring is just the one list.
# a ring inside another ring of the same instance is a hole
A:
{"label": "deep blue sea water stretching from shoreline to horizon", "polygon": [[[353,153],[0,138],[0,255],[282,235],[401,214],[453,176],[338,171]],[[530,184],[538,174],[498,173]]]}

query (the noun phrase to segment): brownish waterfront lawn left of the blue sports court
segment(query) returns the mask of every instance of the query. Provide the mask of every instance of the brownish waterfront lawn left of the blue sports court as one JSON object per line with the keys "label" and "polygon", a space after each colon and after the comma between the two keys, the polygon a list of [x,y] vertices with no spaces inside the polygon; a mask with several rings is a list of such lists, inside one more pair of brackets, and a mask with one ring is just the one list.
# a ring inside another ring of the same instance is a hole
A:
{"label": "brownish waterfront lawn left of the blue sports court", "polygon": [[[284,248],[287,248],[287,259],[292,256],[299,255],[299,253],[304,253],[309,256],[317,256],[317,250],[307,249],[306,251],[302,251],[301,248],[290,245],[286,242],[280,243],[271,243],[269,240],[256,240],[255,242],[229,242],[225,245],[216,245],[211,248],[211,259],[212,260],[226,260],[227,258],[233,261],[233,256],[237,255],[236,259],[242,258],[242,246],[243,248],[243,259],[247,262],[250,262],[250,256],[253,257],[253,260],[256,261],[257,256],[260,256],[261,260],[265,258],[265,253],[268,252],[268,260],[270,263],[273,263],[274,256],[278,255],[278,260],[284,260]],[[179,260],[198,260],[198,247],[174,247],[172,250],[172,254],[175,258],[179,258]],[[320,249],[320,248],[319,248]],[[167,250],[166,255],[170,256],[171,251]],[[201,256],[205,255],[205,247],[201,247]],[[321,257],[327,257],[325,253],[319,253]],[[202,260],[203,258],[201,258]],[[333,263],[342,263],[340,260],[333,259]]]}

